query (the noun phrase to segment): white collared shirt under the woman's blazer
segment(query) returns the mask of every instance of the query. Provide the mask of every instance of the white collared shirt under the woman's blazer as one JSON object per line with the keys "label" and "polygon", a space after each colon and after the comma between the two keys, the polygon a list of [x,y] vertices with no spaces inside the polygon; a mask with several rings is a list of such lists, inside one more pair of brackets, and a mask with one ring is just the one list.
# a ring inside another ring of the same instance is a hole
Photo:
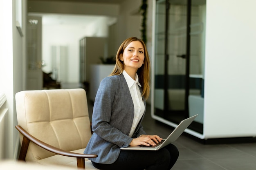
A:
{"label": "white collared shirt under the woman's blazer", "polygon": [[139,121],[144,114],[145,111],[145,105],[144,101],[141,96],[141,92],[139,91],[139,86],[141,87],[141,84],[139,83],[138,75],[136,74],[135,80],[126,73],[126,71],[123,71],[124,78],[126,79],[127,85],[130,90],[130,94],[132,96],[132,102],[134,106],[134,117],[132,121],[132,128],[129,133],[129,137],[132,137],[135,128],[139,124]]}

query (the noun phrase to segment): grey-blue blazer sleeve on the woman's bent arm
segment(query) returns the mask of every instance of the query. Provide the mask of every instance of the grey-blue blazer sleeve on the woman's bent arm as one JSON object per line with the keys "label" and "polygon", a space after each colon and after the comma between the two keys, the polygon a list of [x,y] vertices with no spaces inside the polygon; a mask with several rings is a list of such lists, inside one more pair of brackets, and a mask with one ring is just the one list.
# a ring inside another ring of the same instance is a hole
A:
{"label": "grey-blue blazer sleeve on the woman's bent arm", "polygon": [[119,147],[127,147],[132,141],[132,138],[118,127],[127,126],[126,130],[129,132],[132,122],[130,122],[130,118],[128,117],[127,121],[124,121],[124,124],[120,125],[118,119],[119,117],[121,119],[123,116],[121,115],[122,113],[119,115],[116,114],[115,116],[112,115],[112,112],[115,111],[112,104],[119,90],[120,81],[115,81],[115,79],[110,77],[106,77],[101,81],[94,101],[92,130],[108,142],[116,144]]}

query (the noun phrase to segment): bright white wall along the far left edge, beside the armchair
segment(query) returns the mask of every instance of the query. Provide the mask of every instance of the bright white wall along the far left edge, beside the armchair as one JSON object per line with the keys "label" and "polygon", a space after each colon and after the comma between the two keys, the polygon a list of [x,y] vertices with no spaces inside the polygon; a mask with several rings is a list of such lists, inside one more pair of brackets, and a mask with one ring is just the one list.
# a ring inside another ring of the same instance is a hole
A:
{"label": "bright white wall along the far left edge, beside the armchair", "polygon": [[[22,33],[25,35],[27,0],[22,0]],[[0,91],[6,96],[5,108],[9,113],[7,134],[7,159],[16,159],[19,138],[14,128],[17,124],[15,94],[25,89],[25,38],[16,28],[16,1],[0,1]]]}

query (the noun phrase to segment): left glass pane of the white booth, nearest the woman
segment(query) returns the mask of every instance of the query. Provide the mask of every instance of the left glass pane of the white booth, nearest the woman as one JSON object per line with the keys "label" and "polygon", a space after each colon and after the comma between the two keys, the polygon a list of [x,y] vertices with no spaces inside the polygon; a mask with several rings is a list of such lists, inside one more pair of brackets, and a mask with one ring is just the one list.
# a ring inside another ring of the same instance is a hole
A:
{"label": "left glass pane of the white booth, nearest the woman", "polygon": [[178,123],[187,117],[186,4],[158,0],[155,42],[155,114]]}

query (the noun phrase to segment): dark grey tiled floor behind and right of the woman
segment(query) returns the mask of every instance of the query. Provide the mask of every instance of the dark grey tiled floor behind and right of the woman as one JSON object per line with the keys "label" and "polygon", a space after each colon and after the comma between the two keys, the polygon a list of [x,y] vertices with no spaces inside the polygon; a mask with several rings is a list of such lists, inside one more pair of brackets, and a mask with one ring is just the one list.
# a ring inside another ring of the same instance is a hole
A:
{"label": "dark grey tiled floor behind and right of the woman", "polygon": [[[92,114],[92,102],[88,101]],[[147,106],[143,121],[144,130],[150,135],[166,138],[171,126],[156,121],[150,116]],[[189,135],[182,134],[173,144],[180,156],[172,170],[256,170],[256,143],[202,144]]]}

